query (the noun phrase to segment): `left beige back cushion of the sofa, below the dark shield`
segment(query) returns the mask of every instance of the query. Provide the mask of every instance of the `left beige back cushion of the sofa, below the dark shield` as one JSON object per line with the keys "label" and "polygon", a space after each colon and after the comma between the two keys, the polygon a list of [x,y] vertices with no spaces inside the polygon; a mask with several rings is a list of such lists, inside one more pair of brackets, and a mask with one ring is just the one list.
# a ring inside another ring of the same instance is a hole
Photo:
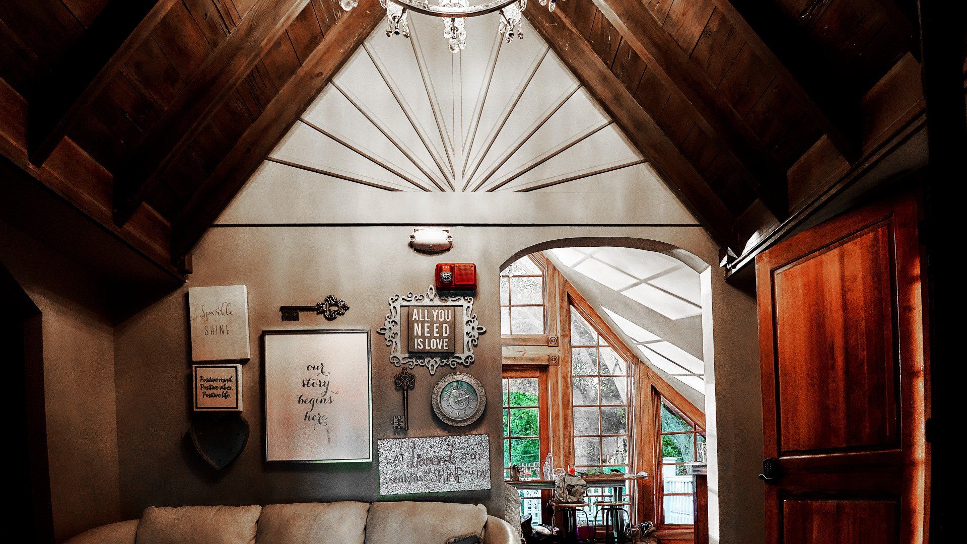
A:
{"label": "left beige back cushion of the sofa, below the dark shield", "polygon": [[253,544],[261,506],[148,507],[136,544]]}

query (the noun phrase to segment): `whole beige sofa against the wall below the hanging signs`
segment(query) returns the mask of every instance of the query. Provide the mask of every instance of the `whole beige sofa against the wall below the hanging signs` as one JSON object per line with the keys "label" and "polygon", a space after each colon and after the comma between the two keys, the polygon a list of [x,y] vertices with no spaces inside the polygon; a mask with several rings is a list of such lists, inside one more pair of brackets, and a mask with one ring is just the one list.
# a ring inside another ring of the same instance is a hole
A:
{"label": "whole beige sofa against the wall below the hanging signs", "polygon": [[91,529],[67,544],[445,544],[469,533],[486,544],[519,544],[482,504],[412,501],[152,506],[140,520]]}

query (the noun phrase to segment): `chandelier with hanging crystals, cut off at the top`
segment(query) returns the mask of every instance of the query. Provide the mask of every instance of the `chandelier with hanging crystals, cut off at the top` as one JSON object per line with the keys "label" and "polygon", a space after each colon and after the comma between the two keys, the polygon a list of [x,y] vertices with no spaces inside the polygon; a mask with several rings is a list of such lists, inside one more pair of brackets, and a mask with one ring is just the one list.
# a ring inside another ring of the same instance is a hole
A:
{"label": "chandelier with hanging crystals, cut off at the top", "polygon": [[[439,4],[434,6],[417,0],[379,0],[380,5],[386,8],[386,17],[390,21],[386,35],[402,35],[404,38],[409,38],[410,25],[406,18],[409,12],[432,15],[443,19],[443,37],[450,41],[451,52],[458,53],[467,45],[467,31],[463,27],[464,19],[500,12],[499,31],[504,35],[507,43],[510,44],[514,37],[520,39],[524,37],[520,31],[520,17],[527,7],[527,0],[489,0],[477,5],[471,5],[470,0],[438,0],[438,2]],[[547,6],[551,12],[557,4],[557,0],[538,0],[538,2],[542,6]],[[339,6],[347,12],[357,5],[359,0],[339,0]]]}

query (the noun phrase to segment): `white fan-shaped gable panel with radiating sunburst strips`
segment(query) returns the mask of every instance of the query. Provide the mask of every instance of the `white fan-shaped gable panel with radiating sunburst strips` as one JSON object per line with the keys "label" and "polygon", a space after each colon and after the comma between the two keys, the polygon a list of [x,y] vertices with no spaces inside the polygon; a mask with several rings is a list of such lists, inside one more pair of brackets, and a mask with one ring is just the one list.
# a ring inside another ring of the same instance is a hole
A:
{"label": "white fan-shaped gable panel with radiating sunburst strips", "polygon": [[644,162],[526,21],[511,44],[492,17],[466,26],[455,55],[434,18],[411,15],[409,40],[377,29],[269,161],[433,192],[528,192]]}

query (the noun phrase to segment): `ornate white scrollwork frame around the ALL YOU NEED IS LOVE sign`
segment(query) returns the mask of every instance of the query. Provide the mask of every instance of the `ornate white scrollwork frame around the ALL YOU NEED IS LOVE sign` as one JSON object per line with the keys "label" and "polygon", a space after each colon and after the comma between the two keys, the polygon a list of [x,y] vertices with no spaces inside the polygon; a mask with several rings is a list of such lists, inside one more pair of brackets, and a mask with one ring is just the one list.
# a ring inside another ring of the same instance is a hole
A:
{"label": "ornate white scrollwork frame around the ALL YOU NEED IS LOVE sign", "polygon": [[[455,353],[407,353],[404,350],[406,334],[403,328],[405,320],[405,308],[411,306],[454,306],[458,309],[457,315],[460,319],[458,326],[462,326],[462,332],[457,331],[457,337],[462,338]],[[410,291],[406,294],[395,294],[390,299],[390,313],[386,315],[383,326],[376,329],[377,332],[386,337],[386,345],[390,347],[390,362],[394,366],[406,365],[410,370],[416,367],[426,367],[430,376],[436,373],[436,369],[441,366],[455,369],[457,365],[469,367],[474,362],[474,348],[480,340],[480,335],[486,332],[486,328],[477,321],[477,314],[474,314],[474,297],[472,296],[447,296],[436,292],[432,286],[425,293],[415,294]]]}

